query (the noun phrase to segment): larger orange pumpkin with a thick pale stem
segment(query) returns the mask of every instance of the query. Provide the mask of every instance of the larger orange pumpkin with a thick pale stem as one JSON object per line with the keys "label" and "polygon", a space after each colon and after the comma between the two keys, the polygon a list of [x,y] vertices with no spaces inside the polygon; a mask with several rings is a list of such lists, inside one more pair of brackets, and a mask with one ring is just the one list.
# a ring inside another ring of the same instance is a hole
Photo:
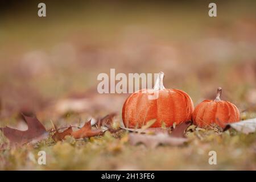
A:
{"label": "larger orange pumpkin with a thick pale stem", "polygon": [[151,119],[156,119],[151,127],[161,127],[163,122],[170,127],[192,120],[191,98],[182,90],[164,88],[163,77],[164,73],[160,72],[154,89],[138,90],[127,98],[122,109],[126,127],[140,128]]}

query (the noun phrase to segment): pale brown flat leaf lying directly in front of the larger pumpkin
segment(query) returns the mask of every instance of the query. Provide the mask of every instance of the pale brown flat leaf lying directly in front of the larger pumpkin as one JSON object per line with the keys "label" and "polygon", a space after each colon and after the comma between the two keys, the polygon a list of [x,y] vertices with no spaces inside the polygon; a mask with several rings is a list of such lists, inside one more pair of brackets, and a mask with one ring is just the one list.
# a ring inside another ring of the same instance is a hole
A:
{"label": "pale brown flat leaf lying directly in front of the larger pumpkin", "polygon": [[155,148],[159,144],[167,144],[170,146],[180,146],[187,142],[187,138],[170,137],[168,134],[156,134],[156,135],[146,135],[146,134],[129,134],[129,142],[131,145],[136,145],[138,143],[143,143],[146,147]]}

